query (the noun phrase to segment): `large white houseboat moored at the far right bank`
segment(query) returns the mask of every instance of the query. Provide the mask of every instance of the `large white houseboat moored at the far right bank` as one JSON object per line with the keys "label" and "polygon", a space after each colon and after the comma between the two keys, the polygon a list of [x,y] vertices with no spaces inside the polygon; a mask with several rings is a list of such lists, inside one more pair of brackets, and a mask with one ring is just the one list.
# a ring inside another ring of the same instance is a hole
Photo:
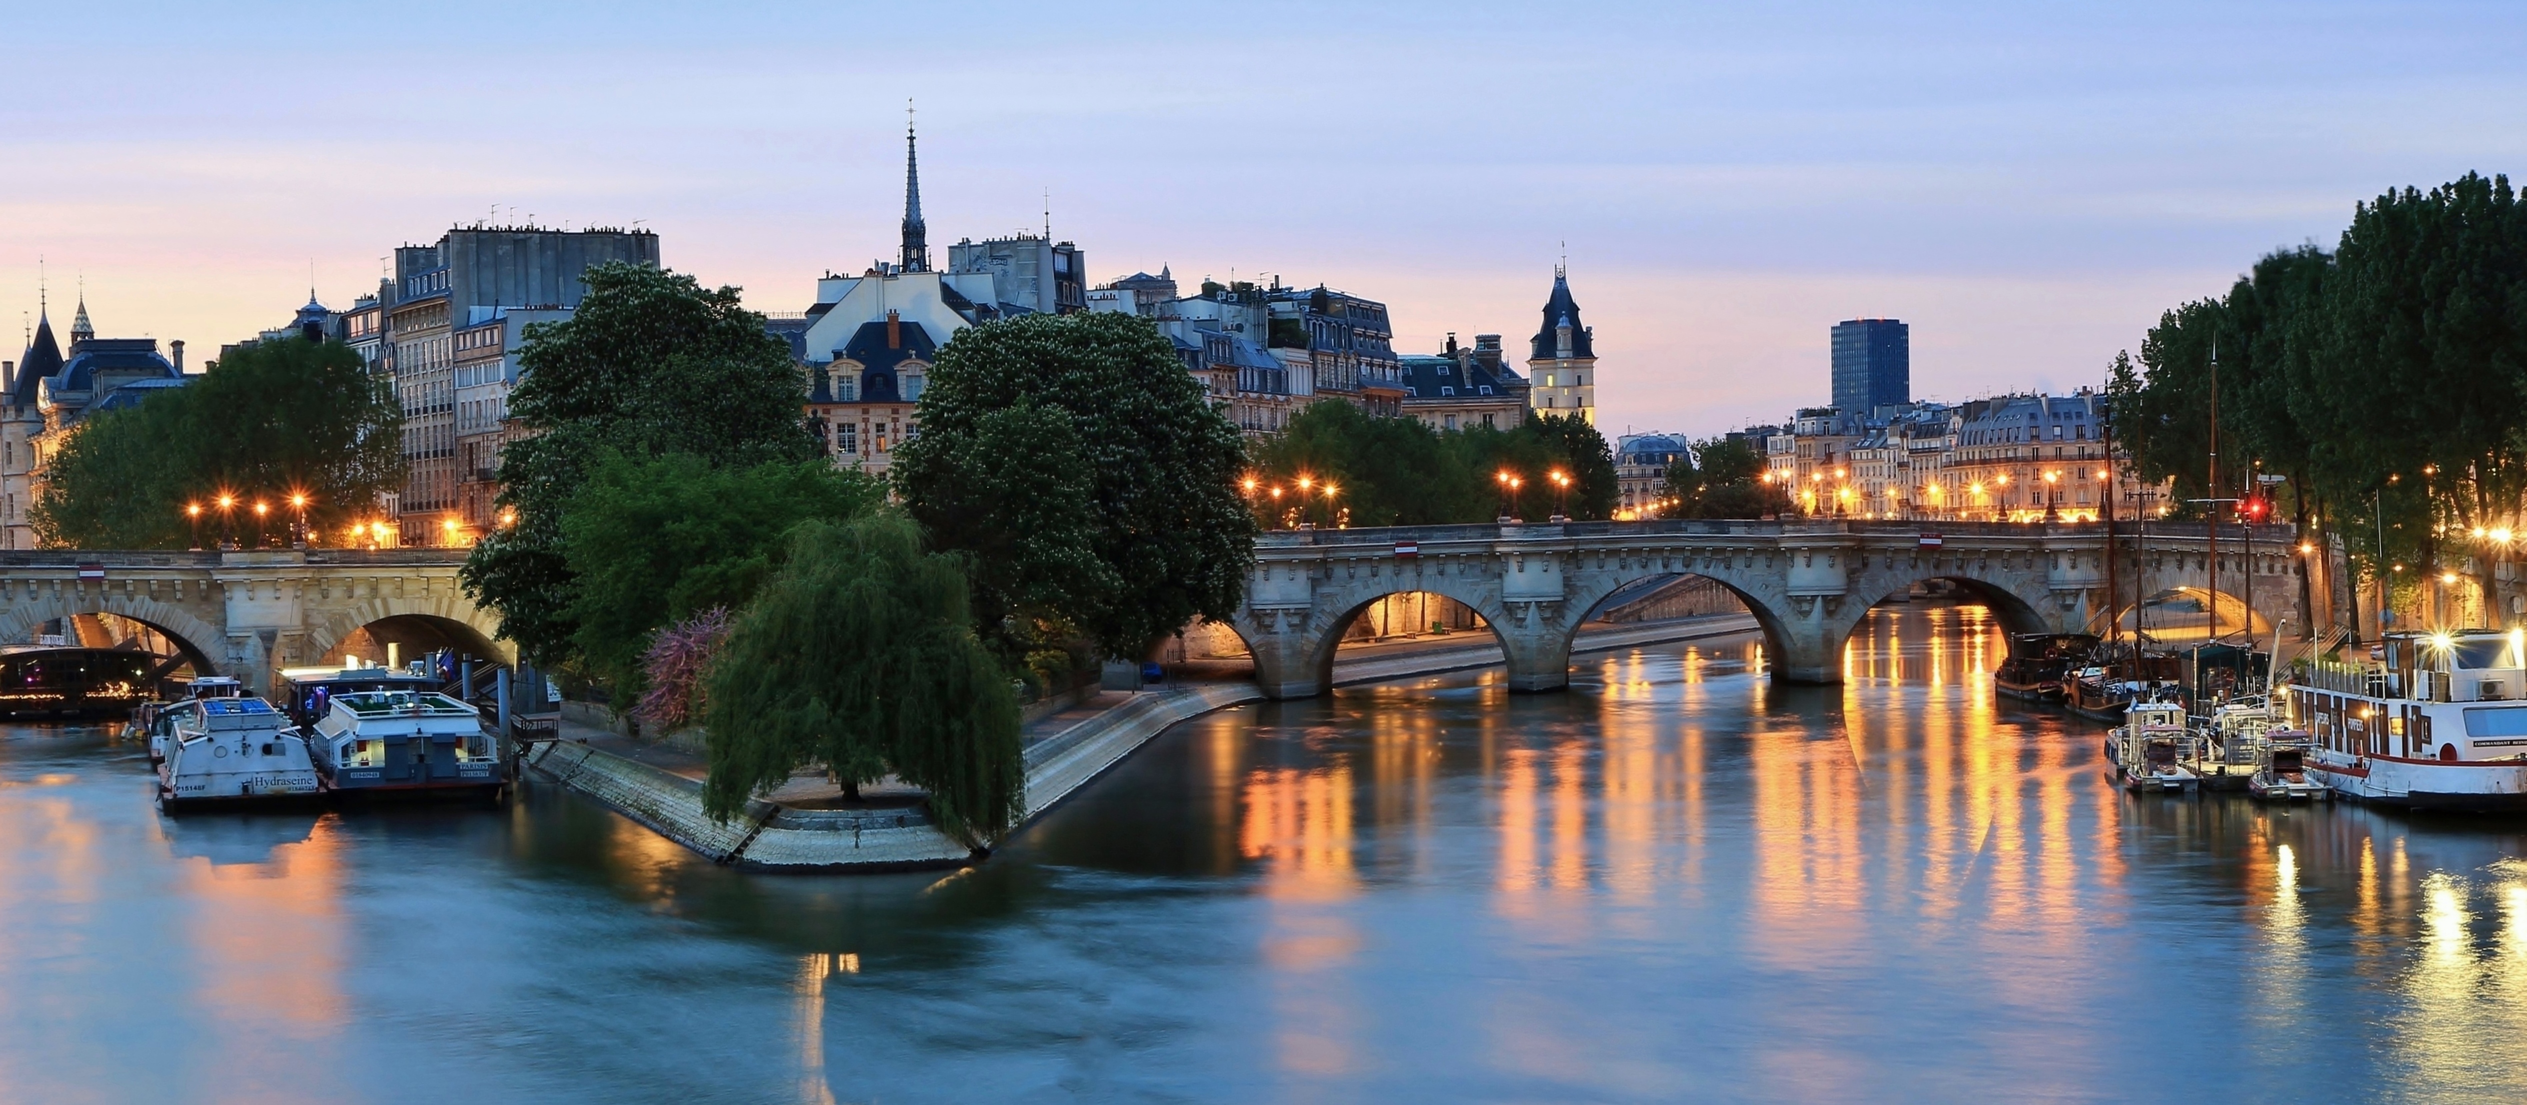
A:
{"label": "large white houseboat moored at the far right bank", "polygon": [[2388,633],[2380,661],[2292,674],[2307,775],[2413,810],[2527,810],[2527,633]]}

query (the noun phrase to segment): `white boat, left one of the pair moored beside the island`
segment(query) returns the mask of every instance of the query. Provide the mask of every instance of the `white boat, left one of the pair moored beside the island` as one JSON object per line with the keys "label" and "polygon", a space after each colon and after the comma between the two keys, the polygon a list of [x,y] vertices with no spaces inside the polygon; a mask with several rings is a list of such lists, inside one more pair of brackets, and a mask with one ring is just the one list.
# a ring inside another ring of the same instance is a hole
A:
{"label": "white boat, left one of the pair moored beside the island", "polygon": [[162,747],[162,810],[306,800],[321,795],[306,737],[270,701],[205,696],[169,704],[152,719]]}

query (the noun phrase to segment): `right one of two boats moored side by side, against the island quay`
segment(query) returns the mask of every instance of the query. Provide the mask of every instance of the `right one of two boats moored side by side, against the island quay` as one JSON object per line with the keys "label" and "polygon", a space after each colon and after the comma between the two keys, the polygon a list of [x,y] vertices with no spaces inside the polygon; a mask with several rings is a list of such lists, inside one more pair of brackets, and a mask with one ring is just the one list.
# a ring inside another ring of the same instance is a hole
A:
{"label": "right one of two boats moored side by side, against the island quay", "polygon": [[498,795],[508,785],[483,714],[437,691],[331,694],[308,744],[316,772],[341,795]]}

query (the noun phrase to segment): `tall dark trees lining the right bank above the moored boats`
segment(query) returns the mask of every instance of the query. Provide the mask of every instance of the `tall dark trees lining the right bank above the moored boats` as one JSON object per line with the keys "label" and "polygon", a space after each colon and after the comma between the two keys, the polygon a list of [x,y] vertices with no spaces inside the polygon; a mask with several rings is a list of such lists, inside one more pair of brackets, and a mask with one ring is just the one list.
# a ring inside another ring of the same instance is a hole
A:
{"label": "tall dark trees lining the right bank above the moored boats", "polygon": [[2479,174],[2380,194],[2332,250],[2277,250],[2161,315],[2110,396],[2178,502],[2282,474],[2279,512],[2343,535],[2355,568],[2454,565],[2456,535],[2514,527],[2527,494],[2527,204]]}

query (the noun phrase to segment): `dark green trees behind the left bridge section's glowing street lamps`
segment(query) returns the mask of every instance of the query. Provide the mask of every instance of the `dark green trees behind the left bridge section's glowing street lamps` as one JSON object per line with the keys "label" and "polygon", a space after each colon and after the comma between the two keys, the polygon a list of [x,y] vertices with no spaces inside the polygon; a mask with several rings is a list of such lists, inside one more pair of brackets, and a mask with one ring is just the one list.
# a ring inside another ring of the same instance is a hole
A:
{"label": "dark green trees behind the left bridge section's glowing street lamps", "polygon": [[379,494],[402,487],[402,421],[392,383],[344,343],[245,346],[182,389],[88,416],[53,454],[30,520],[45,545],[187,547],[192,502],[205,505],[210,542],[220,530],[207,505],[235,494],[250,540],[250,502],[273,507],[268,532],[280,537],[291,494],[306,494],[321,537],[374,517]]}

